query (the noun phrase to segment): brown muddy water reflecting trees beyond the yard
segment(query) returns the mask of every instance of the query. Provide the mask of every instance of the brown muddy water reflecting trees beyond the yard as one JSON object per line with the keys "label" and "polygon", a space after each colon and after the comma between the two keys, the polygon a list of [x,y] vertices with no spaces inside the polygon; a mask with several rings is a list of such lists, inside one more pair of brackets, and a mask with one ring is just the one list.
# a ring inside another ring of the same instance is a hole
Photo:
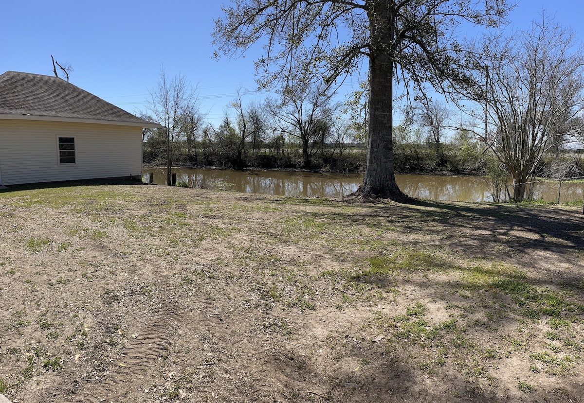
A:
{"label": "brown muddy water reflecting trees beyond the yard", "polygon": [[[225,169],[173,169],[177,184],[193,188],[230,190],[244,193],[270,194],[288,197],[342,197],[357,190],[363,176],[360,174],[313,173],[304,171],[271,171]],[[165,185],[166,170],[144,167],[145,183]],[[396,175],[399,188],[407,195],[420,199],[483,202],[492,201],[489,182],[485,177]],[[583,198],[584,183],[537,183],[533,187],[534,199],[546,202],[571,202]],[[509,187],[509,191],[512,189]],[[503,190],[500,199],[507,199]]]}

